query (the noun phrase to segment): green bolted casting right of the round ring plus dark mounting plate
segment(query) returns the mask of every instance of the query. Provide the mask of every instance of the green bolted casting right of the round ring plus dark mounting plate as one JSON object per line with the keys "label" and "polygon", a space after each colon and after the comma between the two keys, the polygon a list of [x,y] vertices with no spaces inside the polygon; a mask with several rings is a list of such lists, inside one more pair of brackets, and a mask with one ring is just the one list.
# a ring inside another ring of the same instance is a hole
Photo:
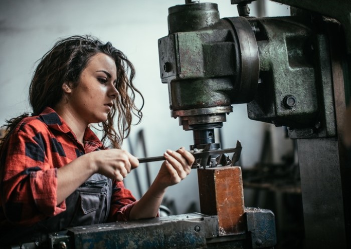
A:
{"label": "green bolted casting right of the round ring plus dark mounting plate", "polygon": [[[250,19],[258,27],[260,79],[251,119],[290,127],[290,137],[335,136],[327,36],[296,17]],[[286,102],[292,96],[293,106]]]}

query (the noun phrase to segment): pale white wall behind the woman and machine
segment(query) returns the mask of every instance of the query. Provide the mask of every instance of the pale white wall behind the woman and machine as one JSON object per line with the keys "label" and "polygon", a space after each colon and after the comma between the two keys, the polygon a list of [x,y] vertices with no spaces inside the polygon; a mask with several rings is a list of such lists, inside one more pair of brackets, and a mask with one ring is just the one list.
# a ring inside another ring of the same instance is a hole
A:
{"label": "pale white wall behind the woman and machine", "polygon": [[[205,2],[205,1],[202,1]],[[211,1],[209,1],[211,2]],[[212,1],[219,5],[221,18],[237,16],[236,6],[230,0]],[[157,40],[167,35],[168,8],[184,4],[182,0],[2,0],[0,1],[0,125],[5,120],[29,111],[28,87],[36,61],[60,37],[91,34],[102,41],[110,41],[123,51],[136,68],[135,84],[145,98],[144,117],[140,125],[132,128],[130,141],[135,144],[136,133],[144,130],[148,156],[162,155],[167,149],[193,144],[190,131],[183,131],[178,120],[170,118],[167,86],[161,84],[158,66]],[[257,15],[255,4],[252,16]],[[288,8],[265,2],[266,15],[289,15]],[[267,14],[268,13],[268,14]],[[234,147],[236,140],[243,144],[242,163],[253,165],[261,150],[266,124],[247,118],[246,105],[234,106],[222,128],[223,147]],[[124,148],[128,149],[127,144]],[[135,155],[142,157],[140,149]],[[150,164],[154,177],[159,162]],[[146,190],[145,167],[138,173]],[[133,173],[125,181],[135,190]],[[168,189],[179,213],[187,210],[191,201],[198,202],[197,174]]]}

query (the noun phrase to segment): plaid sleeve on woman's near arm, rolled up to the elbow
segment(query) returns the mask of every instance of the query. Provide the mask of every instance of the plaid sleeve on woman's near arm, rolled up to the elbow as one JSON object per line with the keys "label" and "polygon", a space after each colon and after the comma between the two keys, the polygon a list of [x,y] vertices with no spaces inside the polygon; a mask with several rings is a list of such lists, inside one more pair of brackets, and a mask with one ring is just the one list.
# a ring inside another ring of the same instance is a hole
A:
{"label": "plaid sleeve on woman's near arm, rolled up to the elbow", "polygon": [[34,224],[66,210],[57,205],[57,168],[47,156],[48,141],[37,127],[19,126],[7,144],[1,184],[2,206],[7,218]]}

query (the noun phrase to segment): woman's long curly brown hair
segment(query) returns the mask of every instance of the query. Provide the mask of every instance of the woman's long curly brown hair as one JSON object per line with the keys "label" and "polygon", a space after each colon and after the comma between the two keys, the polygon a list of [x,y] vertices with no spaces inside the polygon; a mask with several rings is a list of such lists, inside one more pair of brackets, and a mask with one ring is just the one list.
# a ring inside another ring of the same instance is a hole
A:
{"label": "woman's long curly brown hair", "polygon": [[[77,86],[82,71],[89,60],[98,53],[106,54],[115,61],[117,68],[115,87],[119,93],[108,113],[107,120],[102,122],[101,141],[105,143],[109,140],[113,148],[120,148],[123,139],[130,133],[132,116],[135,115],[138,118],[137,124],[141,121],[144,99],[133,85],[135,69],[132,63],[110,42],[104,44],[89,35],[72,36],[56,42],[39,61],[31,81],[29,100],[33,108],[32,116],[39,115],[47,106],[54,108],[63,96],[62,85],[65,82],[71,82],[72,87]],[[140,108],[137,108],[134,103],[136,93],[142,99]],[[116,113],[118,132],[114,128]],[[7,135],[2,140],[5,141],[16,125],[27,116],[29,114],[24,113],[7,120],[5,125]]]}

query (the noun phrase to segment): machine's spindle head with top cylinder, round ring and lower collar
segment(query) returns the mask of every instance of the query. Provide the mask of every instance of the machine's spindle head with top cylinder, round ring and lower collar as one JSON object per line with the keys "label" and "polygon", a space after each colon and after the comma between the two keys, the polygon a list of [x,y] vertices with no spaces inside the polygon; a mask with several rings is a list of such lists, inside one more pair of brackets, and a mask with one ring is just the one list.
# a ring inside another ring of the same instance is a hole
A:
{"label": "machine's spindle head with top cylinder, round ring and lower collar", "polygon": [[219,20],[217,6],[212,7],[169,8],[170,34],[158,40],[160,76],[168,84],[171,115],[185,130],[204,124],[221,127],[232,111],[230,105],[252,100],[257,88],[258,51],[249,22]]}

